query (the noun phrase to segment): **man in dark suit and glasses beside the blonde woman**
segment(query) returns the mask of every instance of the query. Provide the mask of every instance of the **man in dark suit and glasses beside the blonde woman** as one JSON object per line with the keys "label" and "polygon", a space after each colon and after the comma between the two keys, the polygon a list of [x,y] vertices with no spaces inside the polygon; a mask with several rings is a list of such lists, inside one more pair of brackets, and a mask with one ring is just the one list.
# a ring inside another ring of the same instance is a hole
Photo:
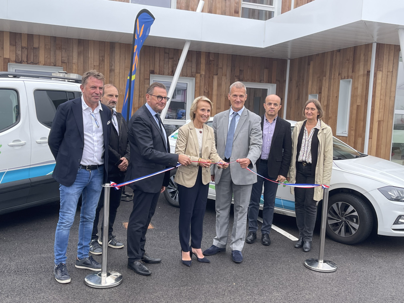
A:
{"label": "man in dark suit and glasses beside the blonde woman", "polygon": [[[170,154],[170,144],[159,112],[166,106],[166,86],[154,82],[147,88],[146,104],[137,110],[128,123],[130,161],[127,180],[156,173],[177,162],[188,165],[185,155]],[[133,210],[128,223],[128,268],[148,276],[151,271],[143,263],[160,263],[145,253],[146,231],[156,210],[157,200],[170,180],[170,171],[131,183]]]}

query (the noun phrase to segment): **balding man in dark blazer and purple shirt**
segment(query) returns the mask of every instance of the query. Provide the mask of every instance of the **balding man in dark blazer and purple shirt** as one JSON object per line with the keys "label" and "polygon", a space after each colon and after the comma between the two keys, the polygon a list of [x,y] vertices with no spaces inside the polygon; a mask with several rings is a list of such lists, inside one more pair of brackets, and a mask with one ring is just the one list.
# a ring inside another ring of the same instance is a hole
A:
{"label": "balding man in dark blazer and purple shirt", "polygon": [[[257,173],[269,180],[282,183],[288,175],[292,157],[292,131],[290,123],[278,117],[281,109],[280,97],[269,95],[265,98],[265,114],[261,116],[262,153],[257,160]],[[271,244],[269,233],[274,219],[275,196],[278,184],[257,176],[257,183],[252,185],[250,205],[248,206],[247,243],[257,238],[257,217],[264,185],[264,208],[262,212],[261,243]]]}

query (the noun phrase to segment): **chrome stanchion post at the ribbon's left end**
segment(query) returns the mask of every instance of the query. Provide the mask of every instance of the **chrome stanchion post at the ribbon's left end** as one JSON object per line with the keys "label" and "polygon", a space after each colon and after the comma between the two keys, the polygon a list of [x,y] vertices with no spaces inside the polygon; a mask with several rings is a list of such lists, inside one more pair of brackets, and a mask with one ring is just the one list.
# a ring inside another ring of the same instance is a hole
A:
{"label": "chrome stanchion post at the ribbon's left end", "polygon": [[104,187],[104,219],[102,236],[102,261],[101,271],[89,274],[84,278],[84,283],[94,288],[109,288],[122,283],[122,275],[116,271],[107,271],[108,260],[108,226],[109,226],[109,191],[111,184],[105,183]]}

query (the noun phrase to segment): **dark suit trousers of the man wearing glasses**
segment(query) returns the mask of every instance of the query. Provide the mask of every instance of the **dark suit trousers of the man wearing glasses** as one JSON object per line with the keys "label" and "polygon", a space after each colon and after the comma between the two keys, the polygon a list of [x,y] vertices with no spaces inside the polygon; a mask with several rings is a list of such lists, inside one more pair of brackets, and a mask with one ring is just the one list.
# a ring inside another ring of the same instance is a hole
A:
{"label": "dark suit trousers of the man wearing glasses", "polygon": [[145,254],[146,232],[151,217],[156,210],[160,191],[156,193],[145,193],[144,191],[133,191],[133,209],[130,213],[128,223],[128,262],[139,261]]}

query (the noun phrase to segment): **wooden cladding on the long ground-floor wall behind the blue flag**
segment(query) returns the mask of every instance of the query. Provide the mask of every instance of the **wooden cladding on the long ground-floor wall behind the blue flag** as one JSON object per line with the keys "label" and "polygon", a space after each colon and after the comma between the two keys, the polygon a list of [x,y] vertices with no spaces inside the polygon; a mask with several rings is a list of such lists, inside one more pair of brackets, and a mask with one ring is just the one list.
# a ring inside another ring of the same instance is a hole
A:
{"label": "wooden cladding on the long ground-floor wall behind the blue flag", "polygon": [[[181,51],[174,48],[143,46],[137,67],[134,110],[145,103],[150,74],[173,76]],[[0,32],[0,71],[8,63],[61,66],[68,73],[90,69],[103,73],[106,83],[118,87],[122,108],[130,66],[130,44],[72,38]],[[195,96],[206,95],[214,103],[213,113],[229,108],[228,89],[235,81],[273,83],[283,99],[286,60],[206,53],[190,50],[181,77],[195,78]]]}

